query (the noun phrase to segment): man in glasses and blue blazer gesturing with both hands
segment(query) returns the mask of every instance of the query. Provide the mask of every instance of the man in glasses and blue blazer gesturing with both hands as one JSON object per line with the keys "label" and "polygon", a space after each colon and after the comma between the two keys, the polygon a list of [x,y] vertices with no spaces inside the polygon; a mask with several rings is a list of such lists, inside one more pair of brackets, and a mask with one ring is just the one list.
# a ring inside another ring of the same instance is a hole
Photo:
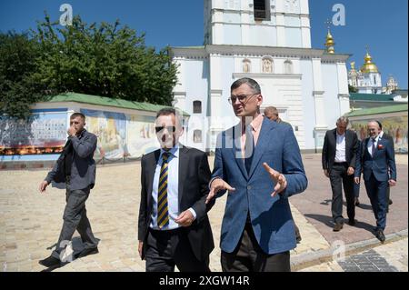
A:
{"label": "man in glasses and blue blazer gesturing with both hands", "polygon": [[290,271],[296,246],[288,197],[307,186],[291,125],[260,114],[260,86],[242,78],[229,99],[240,123],[217,138],[207,202],[228,191],[221,231],[224,272]]}

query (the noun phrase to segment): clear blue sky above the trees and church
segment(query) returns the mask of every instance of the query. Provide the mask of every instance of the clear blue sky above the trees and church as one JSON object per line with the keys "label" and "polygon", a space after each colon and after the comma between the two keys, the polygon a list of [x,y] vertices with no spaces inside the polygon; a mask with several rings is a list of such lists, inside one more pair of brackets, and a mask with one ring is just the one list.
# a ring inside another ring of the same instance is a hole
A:
{"label": "clear blue sky above the trees and church", "polygon": [[[44,11],[57,20],[62,4],[73,6],[74,14],[87,23],[119,18],[137,32],[146,33],[146,44],[202,45],[203,0],[0,0],[0,30],[17,32],[35,28],[44,19]],[[352,54],[349,61],[364,62],[368,45],[374,63],[383,76],[394,75],[401,88],[407,88],[408,1],[407,0],[310,0],[312,44],[323,48],[327,18],[332,18],[334,4],[346,9],[346,25],[333,26],[335,51]],[[349,68],[349,65],[348,65]]]}

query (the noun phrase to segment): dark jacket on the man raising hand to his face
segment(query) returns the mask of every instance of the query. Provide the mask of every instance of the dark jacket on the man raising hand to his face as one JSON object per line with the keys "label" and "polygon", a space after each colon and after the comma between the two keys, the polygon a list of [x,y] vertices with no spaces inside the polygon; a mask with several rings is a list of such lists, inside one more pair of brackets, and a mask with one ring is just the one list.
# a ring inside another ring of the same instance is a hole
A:
{"label": "dark jacket on the man raising hand to his face", "polygon": [[71,167],[71,190],[84,189],[95,185],[96,165],[93,158],[96,149],[96,136],[84,130],[81,135],[68,137],[63,153],[56,161],[53,170],[45,177],[53,186],[65,188],[65,157],[70,146],[73,147]]}

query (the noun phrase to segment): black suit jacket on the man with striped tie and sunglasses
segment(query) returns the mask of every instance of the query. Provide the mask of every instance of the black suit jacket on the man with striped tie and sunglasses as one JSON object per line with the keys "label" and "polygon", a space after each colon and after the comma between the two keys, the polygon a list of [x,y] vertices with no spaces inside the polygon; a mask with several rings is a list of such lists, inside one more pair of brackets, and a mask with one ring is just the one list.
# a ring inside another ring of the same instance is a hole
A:
{"label": "black suit jacket on the man with striped tie and sunglasses", "polygon": [[[153,182],[155,168],[160,150],[144,155],[141,160],[141,204],[139,208],[138,239],[144,242],[142,258],[145,257],[146,237],[151,224],[153,210]],[[183,230],[192,246],[192,250],[200,261],[205,261],[214,249],[212,229],[207,212],[214,205],[214,200],[205,205],[209,194],[210,168],[205,152],[181,146],[179,149],[179,210],[184,212],[192,207],[196,213],[195,222]]]}

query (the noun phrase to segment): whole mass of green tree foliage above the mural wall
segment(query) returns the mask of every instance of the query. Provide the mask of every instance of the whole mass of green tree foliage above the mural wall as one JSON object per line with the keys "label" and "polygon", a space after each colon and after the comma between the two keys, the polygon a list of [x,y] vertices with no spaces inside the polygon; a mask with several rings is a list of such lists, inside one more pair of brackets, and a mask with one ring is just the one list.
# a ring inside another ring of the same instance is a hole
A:
{"label": "whole mass of green tree foliage above the mural wall", "polygon": [[[52,23],[27,35],[0,35],[1,113],[24,117],[47,95],[75,92],[172,105],[177,68],[168,47],[155,51],[145,35],[105,22]],[[5,55],[5,57],[3,57]]]}

